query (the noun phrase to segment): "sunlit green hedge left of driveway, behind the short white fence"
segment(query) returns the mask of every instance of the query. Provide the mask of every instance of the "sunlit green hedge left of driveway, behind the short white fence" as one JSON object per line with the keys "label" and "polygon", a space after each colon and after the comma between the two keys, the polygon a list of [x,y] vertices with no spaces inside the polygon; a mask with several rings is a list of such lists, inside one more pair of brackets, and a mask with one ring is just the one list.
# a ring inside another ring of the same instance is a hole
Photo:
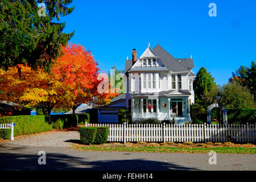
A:
{"label": "sunlit green hedge left of driveway, behind the short white fence", "polygon": [[[16,115],[0,117],[0,123],[15,123],[14,136],[30,135],[51,131],[52,125],[48,123],[44,115]],[[2,133],[2,129],[0,133]]]}

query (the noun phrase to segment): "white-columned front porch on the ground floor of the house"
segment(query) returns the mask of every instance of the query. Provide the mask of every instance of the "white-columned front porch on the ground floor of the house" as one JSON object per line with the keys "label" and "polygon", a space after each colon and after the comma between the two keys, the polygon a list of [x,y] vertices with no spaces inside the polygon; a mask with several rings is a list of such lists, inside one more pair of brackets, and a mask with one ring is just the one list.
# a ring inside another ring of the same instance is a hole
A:
{"label": "white-columned front porch on the ground floor of the house", "polygon": [[133,121],[156,118],[160,121],[175,118],[175,123],[189,121],[188,97],[131,98]]}

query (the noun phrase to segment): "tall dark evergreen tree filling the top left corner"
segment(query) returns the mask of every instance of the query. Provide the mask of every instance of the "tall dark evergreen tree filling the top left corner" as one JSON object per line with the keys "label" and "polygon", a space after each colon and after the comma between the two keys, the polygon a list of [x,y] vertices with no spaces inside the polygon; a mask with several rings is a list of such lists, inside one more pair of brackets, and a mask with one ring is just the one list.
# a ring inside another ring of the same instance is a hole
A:
{"label": "tall dark evergreen tree filling the top left corner", "polygon": [[[39,3],[44,7],[38,7]],[[52,60],[59,56],[73,36],[63,33],[65,23],[59,16],[70,14],[72,0],[2,0],[0,1],[0,68],[18,64],[49,71]],[[20,71],[20,69],[19,69]]]}

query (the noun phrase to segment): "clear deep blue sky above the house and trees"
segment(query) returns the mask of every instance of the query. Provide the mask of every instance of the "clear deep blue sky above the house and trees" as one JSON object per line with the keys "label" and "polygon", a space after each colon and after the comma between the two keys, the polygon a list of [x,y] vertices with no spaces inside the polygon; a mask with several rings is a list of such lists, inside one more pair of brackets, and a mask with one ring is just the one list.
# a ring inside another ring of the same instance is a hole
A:
{"label": "clear deep blue sky above the house and trees", "polygon": [[[212,2],[216,17],[208,14]],[[192,55],[193,72],[205,67],[221,85],[240,65],[256,60],[255,0],[73,0],[73,5],[73,13],[61,19],[64,32],[75,31],[71,43],[92,51],[107,73],[114,65],[125,69],[132,49],[139,57],[148,42],[176,58]]]}

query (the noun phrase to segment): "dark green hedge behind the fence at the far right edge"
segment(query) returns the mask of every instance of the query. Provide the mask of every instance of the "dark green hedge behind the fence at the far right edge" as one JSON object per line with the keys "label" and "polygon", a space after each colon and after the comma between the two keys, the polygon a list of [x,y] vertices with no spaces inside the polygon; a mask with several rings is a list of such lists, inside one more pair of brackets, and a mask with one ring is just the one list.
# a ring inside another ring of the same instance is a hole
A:
{"label": "dark green hedge behind the fence at the far right edge", "polygon": [[228,123],[256,124],[256,109],[228,109]]}

